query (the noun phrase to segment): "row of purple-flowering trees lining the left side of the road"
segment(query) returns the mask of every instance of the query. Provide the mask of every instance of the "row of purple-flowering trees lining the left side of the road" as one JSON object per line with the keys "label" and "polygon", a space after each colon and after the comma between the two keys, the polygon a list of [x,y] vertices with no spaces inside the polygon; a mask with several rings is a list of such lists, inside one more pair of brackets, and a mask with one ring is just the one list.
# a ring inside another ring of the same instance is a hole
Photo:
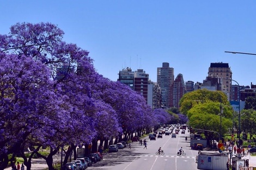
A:
{"label": "row of purple-flowering trees lining the left side of the road", "polygon": [[[174,119],[163,109],[153,111],[130,87],[98,74],[89,52],[64,42],[63,35],[51,23],[17,23],[0,35],[0,169],[11,155],[11,162],[21,156],[29,170],[33,154],[54,169],[52,156],[62,146],[75,152],[77,144],[92,143],[96,151],[99,140],[129,140],[135,130]],[[35,149],[27,159],[29,146]],[[40,155],[41,147],[50,147],[50,154]]]}

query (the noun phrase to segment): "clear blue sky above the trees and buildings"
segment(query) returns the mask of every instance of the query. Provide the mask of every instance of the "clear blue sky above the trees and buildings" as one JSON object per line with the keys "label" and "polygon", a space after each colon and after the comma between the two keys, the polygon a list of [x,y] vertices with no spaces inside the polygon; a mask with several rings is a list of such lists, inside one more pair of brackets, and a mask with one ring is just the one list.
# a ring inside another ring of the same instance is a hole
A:
{"label": "clear blue sky above the trees and buildings", "polygon": [[[156,81],[169,62],[174,78],[203,82],[211,62],[228,62],[240,85],[256,84],[256,1],[4,1],[0,34],[17,22],[51,22],[64,41],[89,51],[111,80],[125,67],[142,68]],[[233,82],[233,84],[235,84]]]}

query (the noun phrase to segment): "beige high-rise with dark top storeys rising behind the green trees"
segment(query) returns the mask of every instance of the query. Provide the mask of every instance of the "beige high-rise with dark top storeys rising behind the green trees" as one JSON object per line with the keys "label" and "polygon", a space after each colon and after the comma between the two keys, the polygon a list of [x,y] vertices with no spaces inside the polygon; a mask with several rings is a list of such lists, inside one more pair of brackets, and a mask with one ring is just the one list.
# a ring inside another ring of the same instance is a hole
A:
{"label": "beige high-rise with dark top storeys rising behind the green trees", "polygon": [[208,71],[208,77],[223,78],[223,79],[220,79],[221,89],[224,93],[226,93],[226,95],[230,100],[232,72],[230,70],[228,63],[223,63],[223,62],[211,63]]}

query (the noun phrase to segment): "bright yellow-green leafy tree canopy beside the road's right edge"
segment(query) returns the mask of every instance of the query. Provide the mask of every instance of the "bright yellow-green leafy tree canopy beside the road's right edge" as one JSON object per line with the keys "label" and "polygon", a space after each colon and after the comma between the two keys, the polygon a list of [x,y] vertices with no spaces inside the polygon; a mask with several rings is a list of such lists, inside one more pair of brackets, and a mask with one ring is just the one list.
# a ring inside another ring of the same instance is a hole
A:
{"label": "bright yellow-green leafy tree canopy beside the road's right edge", "polygon": [[[187,115],[190,126],[196,129],[227,133],[233,124],[233,108],[221,91],[196,90],[180,100],[180,111]],[[204,132],[206,138],[217,137],[217,133]]]}

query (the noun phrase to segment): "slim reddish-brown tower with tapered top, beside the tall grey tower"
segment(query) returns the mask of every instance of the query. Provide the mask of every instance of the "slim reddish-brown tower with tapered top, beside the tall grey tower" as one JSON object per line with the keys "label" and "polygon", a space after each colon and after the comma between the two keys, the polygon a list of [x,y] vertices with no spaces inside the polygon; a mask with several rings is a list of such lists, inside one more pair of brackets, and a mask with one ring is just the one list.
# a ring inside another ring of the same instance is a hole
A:
{"label": "slim reddish-brown tower with tapered top, beside the tall grey tower", "polygon": [[179,102],[182,96],[186,93],[186,87],[182,74],[178,74],[171,88],[170,103],[172,107],[179,108]]}

